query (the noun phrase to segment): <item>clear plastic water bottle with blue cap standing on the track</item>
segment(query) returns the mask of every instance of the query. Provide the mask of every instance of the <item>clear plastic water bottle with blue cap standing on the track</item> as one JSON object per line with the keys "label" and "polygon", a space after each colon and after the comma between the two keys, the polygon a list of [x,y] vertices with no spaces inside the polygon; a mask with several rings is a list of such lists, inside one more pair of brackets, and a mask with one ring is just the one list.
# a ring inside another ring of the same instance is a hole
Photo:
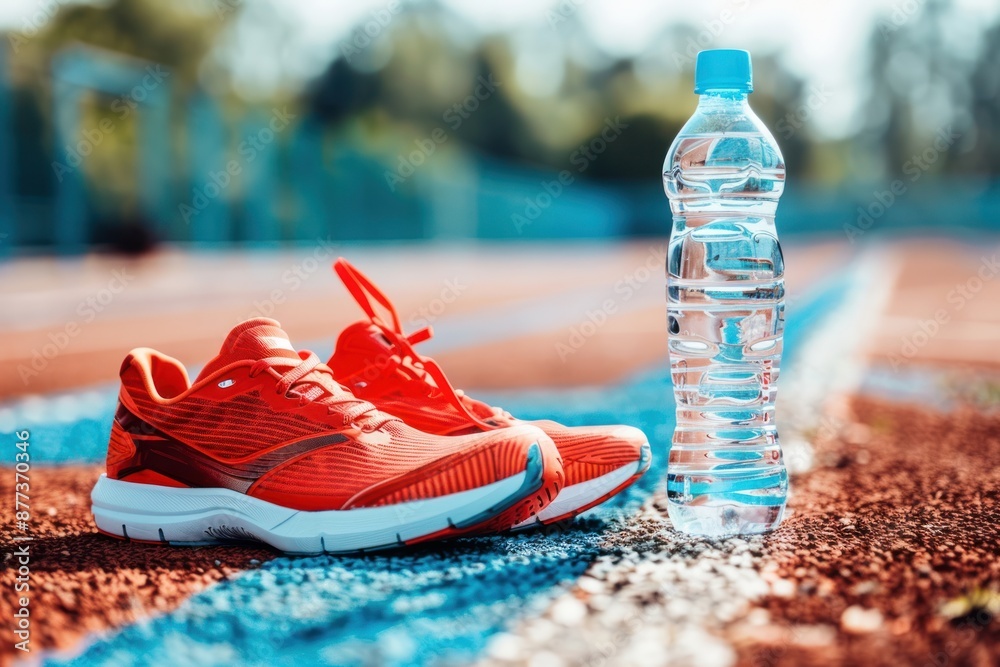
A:
{"label": "clear plastic water bottle with blue cap standing on the track", "polygon": [[677,403],[668,507],[675,528],[698,535],[772,530],[788,492],[774,423],[785,325],[774,213],[785,163],[750,109],[752,90],[749,53],[699,53],[698,108],[663,163]]}

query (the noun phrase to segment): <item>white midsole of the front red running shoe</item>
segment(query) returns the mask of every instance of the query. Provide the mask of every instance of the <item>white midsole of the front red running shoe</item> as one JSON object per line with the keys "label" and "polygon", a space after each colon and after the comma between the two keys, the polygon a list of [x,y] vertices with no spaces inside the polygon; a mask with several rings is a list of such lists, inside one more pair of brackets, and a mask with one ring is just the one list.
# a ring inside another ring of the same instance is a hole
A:
{"label": "white midsole of the front red running shoe", "polygon": [[114,535],[204,544],[245,533],[282,551],[316,554],[392,546],[460,525],[523,493],[526,475],[429,500],[315,512],[229,489],[173,488],[101,475],[91,501],[97,527]]}

